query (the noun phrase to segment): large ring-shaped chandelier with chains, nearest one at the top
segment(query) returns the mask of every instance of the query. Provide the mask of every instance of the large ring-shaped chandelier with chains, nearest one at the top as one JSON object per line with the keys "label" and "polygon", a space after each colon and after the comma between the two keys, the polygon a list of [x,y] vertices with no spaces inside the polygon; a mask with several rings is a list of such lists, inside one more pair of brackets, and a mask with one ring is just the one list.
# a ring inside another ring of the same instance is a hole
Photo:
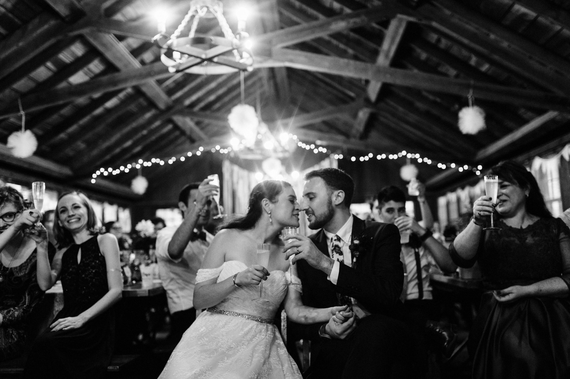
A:
{"label": "large ring-shaped chandelier with chains, nearest one at the top", "polygon": [[[222,36],[196,34],[198,23],[215,18]],[[187,30],[188,36],[182,33]],[[172,35],[166,34],[166,23],[159,22],[159,33],[153,42],[161,48],[161,61],[170,72],[189,72],[201,75],[220,75],[253,69],[253,53],[247,48],[249,35],[245,31],[245,18],[238,19],[238,31],[234,35],[223,17],[219,0],[192,0],[190,10]]]}

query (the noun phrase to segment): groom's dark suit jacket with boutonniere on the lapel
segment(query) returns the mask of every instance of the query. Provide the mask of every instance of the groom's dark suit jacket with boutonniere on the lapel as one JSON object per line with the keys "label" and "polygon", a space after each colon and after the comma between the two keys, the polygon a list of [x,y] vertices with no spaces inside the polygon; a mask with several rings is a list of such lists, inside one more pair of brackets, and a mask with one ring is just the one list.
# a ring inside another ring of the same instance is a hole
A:
{"label": "groom's dark suit jacket with boutonniere on the lapel", "polygon": [[[355,298],[372,314],[396,316],[400,312],[400,295],[404,285],[404,266],[400,261],[400,232],[396,225],[367,222],[353,217],[352,236],[373,238],[365,252],[360,252],[356,267],[341,263],[336,286],[327,274],[301,259],[296,262],[303,285],[303,304],[316,308],[336,306],[336,293]],[[321,253],[329,256],[324,230],[309,236]],[[364,240],[365,238],[360,238]],[[321,324],[295,325],[295,335],[319,339]]]}

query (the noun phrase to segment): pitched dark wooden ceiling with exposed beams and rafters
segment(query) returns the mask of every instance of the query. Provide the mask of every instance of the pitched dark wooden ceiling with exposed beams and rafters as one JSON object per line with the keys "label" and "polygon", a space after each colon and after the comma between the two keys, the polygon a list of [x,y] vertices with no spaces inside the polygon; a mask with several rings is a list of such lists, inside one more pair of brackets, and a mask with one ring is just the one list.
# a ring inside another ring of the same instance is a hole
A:
{"label": "pitched dark wooden ceiling with exposed beams and rafters", "polygon": [[[255,69],[245,76],[246,99],[276,133],[288,125],[302,141],[345,155],[408,150],[472,166],[570,142],[567,2],[248,3],[256,10],[248,22]],[[0,145],[0,175],[136,199],[128,188],[134,172],[95,184],[91,174],[227,144],[239,75],[169,73],[150,42],[157,5],[177,15],[170,33],[189,9],[176,0],[0,0],[0,138],[21,127],[20,98],[39,142],[27,159]],[[486,111],[487,129],[477,135],[457,127],[470,90]],[[474,175],[425,170],[434,190]],[[167,172],[145,168],[150,179]]]}

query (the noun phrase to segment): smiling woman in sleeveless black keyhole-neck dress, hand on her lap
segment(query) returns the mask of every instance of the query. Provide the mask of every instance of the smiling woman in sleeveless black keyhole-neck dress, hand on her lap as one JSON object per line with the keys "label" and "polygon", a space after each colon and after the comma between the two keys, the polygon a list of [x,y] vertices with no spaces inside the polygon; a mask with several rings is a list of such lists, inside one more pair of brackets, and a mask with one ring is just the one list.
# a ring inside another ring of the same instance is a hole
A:
{"label": "smiling woman in sleeveless black keyhole-neck dress, hand on her lap", "polygon": [[[115,236],[95,232],[95,212],[83,193],[59,197],[54,232],[59,250],[51,267],[38,269],[47,290],[61,278],[63,309],[50,330],[32,346],[25,378],[101,378],[111,360],[115,336],[113,304],[123,280]],[[40,259],[38,258],[38,265]]]}

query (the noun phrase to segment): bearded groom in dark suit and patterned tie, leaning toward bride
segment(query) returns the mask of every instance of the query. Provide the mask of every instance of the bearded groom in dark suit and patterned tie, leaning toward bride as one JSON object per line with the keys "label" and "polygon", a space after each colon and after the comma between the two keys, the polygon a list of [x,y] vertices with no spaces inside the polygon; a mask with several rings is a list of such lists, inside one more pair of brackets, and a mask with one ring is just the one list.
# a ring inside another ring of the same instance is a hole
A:
{"label": "bearded groom in dark suit and patterned tie, leaning toward bride", "polygon": [[[319,350],[307,378],[414,377],[415,343],[400,320],[404,281],[400,232],[391,224],[351,215],[352,178],[337,168],[309,172],[302,210],[310,237],[294,234],[286,257],[296,254],[303,304],[349,304],[353,312],[326,324],[292,326],[296,337]],[[348,319],[345,319],[348,318]]]}

